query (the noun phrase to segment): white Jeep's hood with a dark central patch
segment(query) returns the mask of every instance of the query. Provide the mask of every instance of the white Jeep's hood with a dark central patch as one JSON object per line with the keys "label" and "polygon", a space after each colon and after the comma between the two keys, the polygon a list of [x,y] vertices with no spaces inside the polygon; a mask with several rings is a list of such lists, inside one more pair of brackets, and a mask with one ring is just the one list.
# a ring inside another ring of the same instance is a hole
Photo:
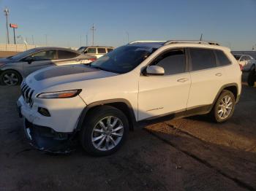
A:
{"label": "white Jeep's hood with a dark central patch", "polygon": [[35,71],[26,77],[26,84],[34,90],[55,85],[116,76],[116,73],[94,69],[86,65],[53,66]]}

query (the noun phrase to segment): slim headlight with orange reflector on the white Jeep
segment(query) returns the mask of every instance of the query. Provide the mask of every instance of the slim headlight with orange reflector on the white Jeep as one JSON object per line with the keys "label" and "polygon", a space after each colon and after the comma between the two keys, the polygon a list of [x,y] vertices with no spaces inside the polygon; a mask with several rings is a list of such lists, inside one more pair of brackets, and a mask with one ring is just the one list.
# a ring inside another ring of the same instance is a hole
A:
{"label": "slim headlight with orange reflector on the white Jeep", "polygon": [[59,92],[40,93],[37,98],[73,98],[82,90],[65,90]]}

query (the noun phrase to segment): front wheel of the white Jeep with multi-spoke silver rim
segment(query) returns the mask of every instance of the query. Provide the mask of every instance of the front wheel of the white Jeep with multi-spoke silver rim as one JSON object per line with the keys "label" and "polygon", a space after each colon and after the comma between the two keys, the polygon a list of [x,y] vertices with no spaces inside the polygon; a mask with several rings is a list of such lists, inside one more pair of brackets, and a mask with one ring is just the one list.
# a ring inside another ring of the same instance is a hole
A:
{"label": "front wheel of the white Jeep with multi-spoke silver rim", "polygon": [[128,130],[129,122],[121,110],[113,106],[100,106],[86,116],[80,130],[80,143],[91,155],[111,155],[124,144]]}

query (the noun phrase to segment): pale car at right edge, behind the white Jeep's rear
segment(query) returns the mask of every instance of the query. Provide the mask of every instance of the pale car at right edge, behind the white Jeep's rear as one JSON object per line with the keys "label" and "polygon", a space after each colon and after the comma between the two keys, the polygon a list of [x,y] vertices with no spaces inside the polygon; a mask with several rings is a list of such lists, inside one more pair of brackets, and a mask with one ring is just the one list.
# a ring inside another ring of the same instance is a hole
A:
{"label": "pale car at right edge, behind the white Jeep's rear", "polygon": [[256,60],[250,55],[234,54],[234,57],[243,67],[243,71],[255,71]]}

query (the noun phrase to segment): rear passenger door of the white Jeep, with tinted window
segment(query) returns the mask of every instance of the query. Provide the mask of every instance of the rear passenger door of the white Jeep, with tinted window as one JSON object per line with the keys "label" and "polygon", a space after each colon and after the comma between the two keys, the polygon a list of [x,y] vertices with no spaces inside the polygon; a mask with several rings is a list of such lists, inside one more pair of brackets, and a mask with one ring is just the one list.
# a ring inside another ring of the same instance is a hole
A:
{"label": "rear passenger door of the white Jeep, with tinted window", "polygon": [[189,48],[191,88],[187,109],[211,105],[225,81],[225,69],[217,66],[212,49]]}

